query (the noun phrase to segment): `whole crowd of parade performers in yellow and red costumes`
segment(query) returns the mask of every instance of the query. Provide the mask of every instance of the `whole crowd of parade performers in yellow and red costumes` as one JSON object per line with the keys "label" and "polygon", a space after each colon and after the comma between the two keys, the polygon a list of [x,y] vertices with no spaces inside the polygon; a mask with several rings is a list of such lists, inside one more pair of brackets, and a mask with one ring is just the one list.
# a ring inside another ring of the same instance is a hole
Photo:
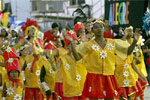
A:
{"label": "whole crowd of parade performers in yellow and red costumes", "polygon": [[60,32],[30,19],[0,28],[0,100],[144,100],[150,40],[139,28],[120,28],[120,39],[100,19]]}

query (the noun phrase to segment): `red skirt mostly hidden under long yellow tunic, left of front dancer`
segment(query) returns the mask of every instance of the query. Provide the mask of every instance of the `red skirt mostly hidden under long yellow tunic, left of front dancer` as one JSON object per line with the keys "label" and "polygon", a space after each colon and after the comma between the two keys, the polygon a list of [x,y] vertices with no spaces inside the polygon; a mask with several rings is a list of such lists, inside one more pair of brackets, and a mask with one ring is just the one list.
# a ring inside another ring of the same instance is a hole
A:
{"label": "red skirt mostly hidden under long yellow tunic, left of front dancer", "polygon": [[55,83],[55,92],[61,97],[62,100],[87,100],[84,96],[64,97],[63,96],[63,83]]}

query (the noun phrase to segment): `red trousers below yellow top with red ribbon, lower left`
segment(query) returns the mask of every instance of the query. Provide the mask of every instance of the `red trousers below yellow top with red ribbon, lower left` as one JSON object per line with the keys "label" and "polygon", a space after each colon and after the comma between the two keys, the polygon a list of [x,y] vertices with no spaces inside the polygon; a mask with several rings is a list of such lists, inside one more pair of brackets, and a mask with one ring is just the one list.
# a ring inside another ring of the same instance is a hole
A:
{"label": "red trousers below yellow top with red ribbon, lower left", "polygon": [[44,100],[44,96],[39,88],[25,88],[24,100]]}

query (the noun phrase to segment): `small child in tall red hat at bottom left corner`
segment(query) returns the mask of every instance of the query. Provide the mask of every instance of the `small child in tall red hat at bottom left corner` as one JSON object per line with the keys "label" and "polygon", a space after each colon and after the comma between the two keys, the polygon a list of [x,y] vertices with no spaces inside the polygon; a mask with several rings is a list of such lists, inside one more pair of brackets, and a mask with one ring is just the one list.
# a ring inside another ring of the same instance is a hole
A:
{"label": "small child in tall red hat at bottom left corner", "polygon": [[4,83],[2,100],[22,100],[23,80],[20,78],[20,65],[17,59],[6,62],[7,77]]}

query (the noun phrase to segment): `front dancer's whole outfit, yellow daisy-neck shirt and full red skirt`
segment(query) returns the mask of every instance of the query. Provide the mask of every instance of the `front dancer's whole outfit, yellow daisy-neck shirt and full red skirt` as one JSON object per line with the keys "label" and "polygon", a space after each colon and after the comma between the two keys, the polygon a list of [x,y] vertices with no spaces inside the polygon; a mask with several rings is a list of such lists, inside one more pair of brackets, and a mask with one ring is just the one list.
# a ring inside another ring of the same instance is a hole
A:
{"label": "front dancer's whole outfit, yellow daisy-neck shirt and full red skirt", "polygon": [[[126,41],[106,39],[106,45],[90,40],[77,47],[86,61],[87,77],[82,95],[89,99],[110,99],[119,97],[119,86],[114,77],[115,54],[125,59],[128,45]],[[122,45],[124,44],[124,45]]]}

